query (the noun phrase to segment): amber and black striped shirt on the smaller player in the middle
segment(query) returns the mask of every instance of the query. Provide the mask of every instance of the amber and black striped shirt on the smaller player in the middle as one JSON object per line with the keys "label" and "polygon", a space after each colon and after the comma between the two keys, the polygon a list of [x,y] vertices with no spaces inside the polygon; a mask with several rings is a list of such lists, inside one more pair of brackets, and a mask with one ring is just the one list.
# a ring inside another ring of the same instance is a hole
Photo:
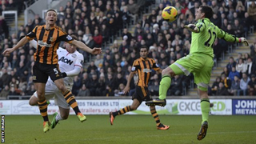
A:
{"label": "amber and black striped shirt on the smaller player in the middle", "polygon": [[147,87],[152,70],[158,71],[159,69],[153,58],[138,58],[134,61],[131,71],[138,73],[137,85]]}

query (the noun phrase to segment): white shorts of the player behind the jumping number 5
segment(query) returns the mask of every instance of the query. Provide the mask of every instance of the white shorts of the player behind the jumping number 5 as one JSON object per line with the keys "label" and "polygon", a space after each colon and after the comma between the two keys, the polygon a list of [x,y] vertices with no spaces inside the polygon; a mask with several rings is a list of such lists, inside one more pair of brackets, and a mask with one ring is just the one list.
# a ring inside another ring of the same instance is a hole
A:
{"label": "white shorts of the player behind the jumping number 5", "polygon": [[[71,87],[72,86],[66,86],[66,88],[70,91]],[[34,92],[34,96],[38,98],[37,91]],[[62,92],[58,90],[58,87],[54,83],[46,83],[45,96],[47,101],[54,98],[55,105],[60,106],[63,109],[70,109],[70,105],[66,102]]]}

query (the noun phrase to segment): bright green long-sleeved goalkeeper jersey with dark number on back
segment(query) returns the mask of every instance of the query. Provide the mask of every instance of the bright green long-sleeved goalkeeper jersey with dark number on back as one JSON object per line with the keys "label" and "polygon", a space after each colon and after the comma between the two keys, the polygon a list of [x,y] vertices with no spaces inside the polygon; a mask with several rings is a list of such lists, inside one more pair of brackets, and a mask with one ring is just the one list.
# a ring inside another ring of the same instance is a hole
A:
{"label": "bright green long-sleeved goalkeeper jersey with dark number on back", "polygon": [[238,38],[228,34],[210,22],[209,18],[199,19],[195,26],[198,33],[192,33],[190,54],[207,54],[214,58],[213,45],[216,38],[223,38],[227,42],[238,42]]}

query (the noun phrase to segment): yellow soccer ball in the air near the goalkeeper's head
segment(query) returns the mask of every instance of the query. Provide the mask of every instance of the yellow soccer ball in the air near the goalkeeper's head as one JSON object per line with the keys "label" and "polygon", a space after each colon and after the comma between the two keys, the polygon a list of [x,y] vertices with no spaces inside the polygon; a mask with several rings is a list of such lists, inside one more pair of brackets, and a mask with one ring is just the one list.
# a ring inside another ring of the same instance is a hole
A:
{"label": "yellow soccer ball in the air near the goalkeeper's head", "polygon": [[166,20],[167,22],[174,22],[177,18],[177,10],[174,6],[166,6],[162,10],[162,18]]}

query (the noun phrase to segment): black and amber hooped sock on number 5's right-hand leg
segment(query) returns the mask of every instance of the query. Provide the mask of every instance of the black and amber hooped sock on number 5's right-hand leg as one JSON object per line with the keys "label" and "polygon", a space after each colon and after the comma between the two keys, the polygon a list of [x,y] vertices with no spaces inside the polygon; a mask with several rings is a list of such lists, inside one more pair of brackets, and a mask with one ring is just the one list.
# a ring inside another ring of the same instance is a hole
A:
{"label": "black and amber hooped sock on number 5's right-hand leg", "polygon": [[66,92],[63,95],[64,95],[64,98],[66,99],[66,102],[74,110],[74,113],[77,115],[78,115],[78,113],[81,113],[78,108],[78,102],[75,100],[74,95],[70,92],[70,90],[66,90]]}

